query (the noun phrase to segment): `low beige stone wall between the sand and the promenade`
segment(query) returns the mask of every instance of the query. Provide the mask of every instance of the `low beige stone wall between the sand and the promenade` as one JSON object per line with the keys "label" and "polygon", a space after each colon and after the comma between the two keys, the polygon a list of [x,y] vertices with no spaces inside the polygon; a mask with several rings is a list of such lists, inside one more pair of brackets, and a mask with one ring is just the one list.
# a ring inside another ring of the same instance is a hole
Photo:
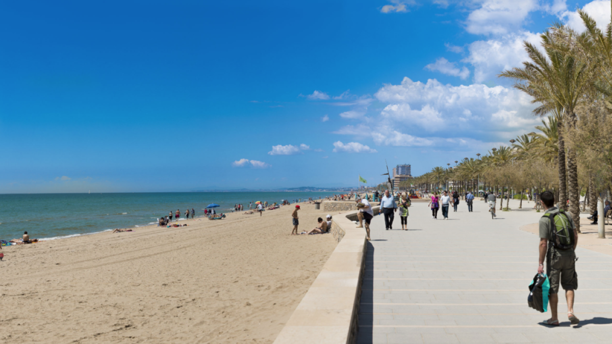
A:
{"label": "low beige stone wall between the sand and the promenade", "polygon": [[[378,213],[378,207],[373,211]],[[365,230],[351,220],[356,217],[357,211],[334,215],[332,233],[338,246],[274,344],[354,342],[367,253]]]}

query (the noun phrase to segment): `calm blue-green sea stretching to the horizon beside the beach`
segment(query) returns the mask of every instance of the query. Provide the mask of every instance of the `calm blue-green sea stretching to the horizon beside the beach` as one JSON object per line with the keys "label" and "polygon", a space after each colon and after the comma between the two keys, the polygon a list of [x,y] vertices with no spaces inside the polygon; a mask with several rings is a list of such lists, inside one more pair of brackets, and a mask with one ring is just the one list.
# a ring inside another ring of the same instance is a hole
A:
{"label": "calm blue-green sea stretching to the horizon beside the beach", "polygon": [[330,192],[176,192],[176,193],[47,193],[0,195],[0,239],[19,238],[23,231],[38,239],[77,236],[113,228],[157,223],[168,212],[195,209],[204,215],[208,204],[230,212],[234,204],[248,209],[250,201],[324,198]]}

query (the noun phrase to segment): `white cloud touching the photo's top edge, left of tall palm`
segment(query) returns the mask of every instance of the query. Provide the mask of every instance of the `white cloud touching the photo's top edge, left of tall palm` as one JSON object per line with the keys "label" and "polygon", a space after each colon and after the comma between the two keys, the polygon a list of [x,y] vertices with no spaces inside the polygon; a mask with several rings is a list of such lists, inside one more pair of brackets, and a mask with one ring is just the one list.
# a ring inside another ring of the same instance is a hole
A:
{"label": "white cloud touching the photo's top edge, left of tall palm", "polygon": [[507,34],[520,28],[529,12],[539,9],[537,0],[477,0],[480,6],[468,15],[471,34]]}

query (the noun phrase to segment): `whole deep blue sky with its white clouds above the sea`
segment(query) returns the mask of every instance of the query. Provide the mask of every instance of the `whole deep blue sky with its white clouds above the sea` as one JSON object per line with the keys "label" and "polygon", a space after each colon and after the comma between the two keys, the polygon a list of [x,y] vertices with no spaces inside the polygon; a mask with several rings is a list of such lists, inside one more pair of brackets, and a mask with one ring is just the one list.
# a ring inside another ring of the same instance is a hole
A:
{"label": "whole deep blue sky with its white clouds above the sea", "polygon": [[610,20],[602,0],[3,2],[0,193],[419,175],[533,130],[495,75],[583,6]]}

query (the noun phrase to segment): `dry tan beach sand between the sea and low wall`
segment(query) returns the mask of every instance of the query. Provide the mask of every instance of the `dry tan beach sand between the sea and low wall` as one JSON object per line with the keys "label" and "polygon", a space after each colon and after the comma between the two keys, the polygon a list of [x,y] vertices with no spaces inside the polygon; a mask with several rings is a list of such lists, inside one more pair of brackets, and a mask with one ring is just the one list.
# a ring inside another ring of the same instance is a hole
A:
{"label": "dry tan beach sand between the sea and low wall", "polygon": [[0,342],[272,343],[336,247],[293,209],[5,247]]}

